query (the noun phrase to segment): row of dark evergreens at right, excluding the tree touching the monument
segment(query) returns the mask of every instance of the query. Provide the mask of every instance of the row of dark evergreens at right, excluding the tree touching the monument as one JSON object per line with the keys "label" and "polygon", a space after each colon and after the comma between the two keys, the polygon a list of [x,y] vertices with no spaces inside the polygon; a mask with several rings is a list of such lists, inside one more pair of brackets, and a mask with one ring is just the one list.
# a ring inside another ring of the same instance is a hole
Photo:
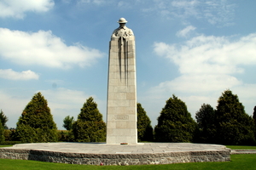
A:
{"label": "row of dark evergreens at right, excluding the tree touching the monument", "polygon": [[207,144],[256,144],[256,107],[248,116],[236,94],[230,90],[218,99],[216,109],[203,104],[191,118],[185,103],[175,95],[166,101],[154,127],[156,141]]}

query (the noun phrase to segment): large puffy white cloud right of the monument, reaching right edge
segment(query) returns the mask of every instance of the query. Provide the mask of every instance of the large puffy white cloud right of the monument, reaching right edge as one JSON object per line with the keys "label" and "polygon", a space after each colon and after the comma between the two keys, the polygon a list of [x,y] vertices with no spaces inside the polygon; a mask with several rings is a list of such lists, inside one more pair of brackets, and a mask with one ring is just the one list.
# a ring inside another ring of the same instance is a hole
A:
{"label": "large puffy white cloud right of the monument, reaching right edge", "polygon": [[242,73],[256,65],[256,34],[230,42],[229,37],[198,36],[183,45],[154,43],[154,52],[171,59],[182,74]]}

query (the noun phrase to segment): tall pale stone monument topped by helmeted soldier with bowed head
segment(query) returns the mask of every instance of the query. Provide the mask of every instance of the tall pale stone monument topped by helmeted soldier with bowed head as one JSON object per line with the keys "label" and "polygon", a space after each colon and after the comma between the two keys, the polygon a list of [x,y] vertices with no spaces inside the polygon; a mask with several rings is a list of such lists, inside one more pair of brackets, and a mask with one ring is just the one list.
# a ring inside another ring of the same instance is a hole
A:
{"label": "tall pale stone monument topped by helmeted soldier with bowed head", "polygon": [[107,144],[137,144],[135,37],[120,18],[109,42]]}

